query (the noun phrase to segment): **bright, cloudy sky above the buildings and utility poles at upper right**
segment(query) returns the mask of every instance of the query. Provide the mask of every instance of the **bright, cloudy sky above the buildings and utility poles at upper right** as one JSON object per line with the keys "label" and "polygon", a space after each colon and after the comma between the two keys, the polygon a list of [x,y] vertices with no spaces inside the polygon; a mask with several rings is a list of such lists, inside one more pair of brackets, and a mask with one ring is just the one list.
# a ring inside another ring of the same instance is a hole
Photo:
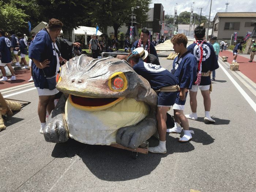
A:
{"label": "bright, cloudy sky above the buildings and utility poles at upper right", "polygon": [[[195,2],[193,4],[193,2]],[[191,5],[194,7],[194,12],[200,14],[199,7],[203,7],[202,15],[209,15],[211,0],[152,0],[150,7],[154,7],[154,3],[162,3],[165,14],[173,15],[174,5],[176,3],[177,14],[180,12],[191,10]],[[227,12],[256,12],[256,0],[212,0],[211,19],[214,18],[217,12],[226,11],[226,3],[229,3]],[[208,18],[208,16],[207,16]]]}

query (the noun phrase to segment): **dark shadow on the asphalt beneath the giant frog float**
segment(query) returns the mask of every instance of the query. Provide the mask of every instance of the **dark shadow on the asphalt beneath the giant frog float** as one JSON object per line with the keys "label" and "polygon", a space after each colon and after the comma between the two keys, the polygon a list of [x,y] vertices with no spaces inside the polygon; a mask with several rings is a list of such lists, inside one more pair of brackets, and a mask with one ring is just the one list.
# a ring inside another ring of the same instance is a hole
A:
{"label": "dark shadow on the asphalt beneath the giant frog float", "polygon": [[[57,143],[52,157],[72,158],[78,155],[96,177],[105,181],[126,181],[150,174],[160,163],[161,158],[173,153],[185,153],[194,150],[188,143],[180,143],[176,138],[166,136],[167,154],[138,154],[132,159],[132,152],[110,146],[88,145],[69,139]],[[149,139],[150,146],[157,146],[158,140]]]}

